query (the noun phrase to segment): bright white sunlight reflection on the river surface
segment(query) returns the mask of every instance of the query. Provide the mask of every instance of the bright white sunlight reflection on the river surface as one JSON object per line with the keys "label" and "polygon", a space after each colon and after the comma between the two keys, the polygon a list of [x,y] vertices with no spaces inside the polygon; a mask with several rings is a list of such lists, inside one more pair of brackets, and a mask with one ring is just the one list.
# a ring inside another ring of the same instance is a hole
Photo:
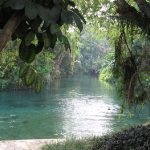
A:
{"label": "bright white sunlight reflection on the river surface", "polygon": [[108,104],[100,96],[72,99],[67,103],[65,110],[66,121],[63,128],[66,136],[71,134],[70,131],[74,137],[104,135],[111,132],[114,114],[117,115],[118,108],[118,105]]}

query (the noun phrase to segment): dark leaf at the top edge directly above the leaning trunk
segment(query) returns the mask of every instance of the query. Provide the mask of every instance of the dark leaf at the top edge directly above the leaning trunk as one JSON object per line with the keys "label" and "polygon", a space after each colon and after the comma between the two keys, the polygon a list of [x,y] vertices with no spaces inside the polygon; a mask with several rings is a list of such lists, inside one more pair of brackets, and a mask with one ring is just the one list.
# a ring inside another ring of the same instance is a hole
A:
{"label": "dark leaf at the top edge directly above the leaning trunk", "polygon": [[20,10],[25,7],[25,0],[8,0],[6,5],[12,9]]}

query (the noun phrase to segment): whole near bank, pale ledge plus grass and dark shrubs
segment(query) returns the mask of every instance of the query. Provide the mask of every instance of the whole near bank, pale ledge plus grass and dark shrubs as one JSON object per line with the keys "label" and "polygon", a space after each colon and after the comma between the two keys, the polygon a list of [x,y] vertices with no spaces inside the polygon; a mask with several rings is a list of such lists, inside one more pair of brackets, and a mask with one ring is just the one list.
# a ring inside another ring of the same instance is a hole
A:
{"label": "whole near bank, pale ledge plus grass and dark shrubs", "polygon": [[34,139],[0,141],[0,150],[148,150],[150,123],[89,139]]}

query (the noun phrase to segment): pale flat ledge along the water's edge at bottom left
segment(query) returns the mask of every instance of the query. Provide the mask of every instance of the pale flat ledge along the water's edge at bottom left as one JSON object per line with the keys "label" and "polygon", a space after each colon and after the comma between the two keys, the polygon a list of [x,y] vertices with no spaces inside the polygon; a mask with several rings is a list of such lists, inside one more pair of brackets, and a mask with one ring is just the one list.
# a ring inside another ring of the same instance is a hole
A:
{"label": "pale flat ledge along the water's edge at bottom left", "polygon": [[64,139],[34,139],[0,141],[0,150],[40,150],[45,144],[63,142]]}

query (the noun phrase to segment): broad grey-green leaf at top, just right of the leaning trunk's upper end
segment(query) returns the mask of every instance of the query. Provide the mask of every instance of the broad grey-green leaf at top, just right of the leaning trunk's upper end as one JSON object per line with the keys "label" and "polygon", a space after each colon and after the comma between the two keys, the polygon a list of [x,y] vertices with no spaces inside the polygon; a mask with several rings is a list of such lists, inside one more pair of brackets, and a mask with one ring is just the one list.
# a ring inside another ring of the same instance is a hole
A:
{"label": "broad grey-green leaf at top, just right of the leaning trunk's upper end", "polygon": [[25,15],[29,19],[35,19],[38,15],[38,9],[35,3],[31,1],[27,1],[25,4]]}

